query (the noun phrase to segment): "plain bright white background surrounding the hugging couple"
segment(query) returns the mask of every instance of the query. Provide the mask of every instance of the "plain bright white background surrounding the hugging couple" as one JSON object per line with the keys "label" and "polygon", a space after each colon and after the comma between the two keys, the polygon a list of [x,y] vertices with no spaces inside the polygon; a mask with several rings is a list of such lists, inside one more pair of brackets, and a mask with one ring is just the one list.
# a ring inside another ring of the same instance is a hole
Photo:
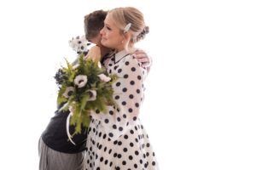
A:
{"label": "plain bright white background surrounding the hugging couple", "polygon": [[134,6],[153,58],[141,119],[162,170],[256,169],[256,6],[247,0],[0,3],[0,169],[38,169],[56,69],[84,14]]}

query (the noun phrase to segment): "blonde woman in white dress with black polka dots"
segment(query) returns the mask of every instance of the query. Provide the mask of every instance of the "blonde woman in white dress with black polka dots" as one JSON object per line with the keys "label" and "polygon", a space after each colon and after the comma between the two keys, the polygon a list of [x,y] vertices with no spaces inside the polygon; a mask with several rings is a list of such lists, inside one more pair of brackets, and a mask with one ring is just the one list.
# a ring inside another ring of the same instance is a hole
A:
{"label": "blonde woman in white dress with black polka dots", "polygon": [[148,33],[143,14],[137,8],[114,8],[102,28],[102,45],[115,49],[104,61],[113,83],[119,108],[108,106],[108,114],[91,112],[86,142],[85,169],[158,169],[154,151],[138,115],[143,101],[146,71],[132,53],[134,43]]}

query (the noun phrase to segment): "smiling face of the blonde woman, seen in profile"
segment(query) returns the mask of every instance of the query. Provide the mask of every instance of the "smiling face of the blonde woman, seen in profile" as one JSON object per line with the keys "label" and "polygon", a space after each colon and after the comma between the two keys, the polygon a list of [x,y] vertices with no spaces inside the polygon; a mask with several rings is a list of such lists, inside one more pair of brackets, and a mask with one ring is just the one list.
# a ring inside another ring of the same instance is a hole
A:
{"label": "smiling face of the blonde woman, seen in profile", "polygon": [[108,48],[114,48],[121,51],[125,48],[125,37],[120,34],[119,28],[115,26],[113,19],[107,15],[104,20],[104,27],[101,30],[102,45]]}

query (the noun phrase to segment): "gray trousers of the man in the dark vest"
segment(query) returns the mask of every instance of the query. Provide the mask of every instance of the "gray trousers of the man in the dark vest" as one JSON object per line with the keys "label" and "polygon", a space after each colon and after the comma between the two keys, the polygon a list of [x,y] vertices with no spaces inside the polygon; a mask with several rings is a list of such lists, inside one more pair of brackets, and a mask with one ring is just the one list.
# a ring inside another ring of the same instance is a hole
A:
{"label": "gray trousers of the man in the dark vest", "polygon": [[52,150],[40,138],[38,153],[39,170],[84,170],[85,152],[67,154]]}

